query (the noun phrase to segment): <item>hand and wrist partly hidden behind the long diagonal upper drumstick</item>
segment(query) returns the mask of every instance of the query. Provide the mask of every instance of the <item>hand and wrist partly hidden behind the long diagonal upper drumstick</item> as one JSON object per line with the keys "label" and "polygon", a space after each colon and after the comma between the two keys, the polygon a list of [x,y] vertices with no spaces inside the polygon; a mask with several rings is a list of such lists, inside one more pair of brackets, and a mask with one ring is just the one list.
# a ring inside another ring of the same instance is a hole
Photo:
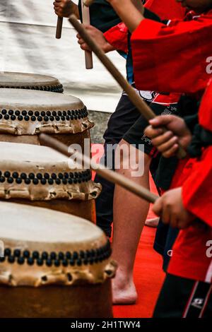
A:
{"label": "hand and wrist partly hidden behind the long diagonal upper drumstick", "polygon": [[[107,53],[114,51],[114,47],[110,45],[109,42],[107,42],[104,34],[100,30],[93,27],[93,25],[89,24],[83,24],[83,26],[84,28],[86,28],[90,37],[92,37],[95,40],[95,42],[98,44],[100,49],[102,49],[103,52]],[[86,42],[84,42],[84,40],[81,38],[81,35],[77,34],[76,37],[78,38],[78,44],[81,45],[81,49],[83,49],[83,51],[90,51],[90,48],[88,47]]]}

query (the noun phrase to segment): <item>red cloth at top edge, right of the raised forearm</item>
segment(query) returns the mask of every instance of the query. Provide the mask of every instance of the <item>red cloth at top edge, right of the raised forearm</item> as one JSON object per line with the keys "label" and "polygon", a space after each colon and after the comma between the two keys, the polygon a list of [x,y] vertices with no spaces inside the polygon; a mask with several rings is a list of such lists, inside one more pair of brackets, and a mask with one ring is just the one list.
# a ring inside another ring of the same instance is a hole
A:
{"label": "red cloth at top edge, right of the raised forearm", "polygon": [[145,7],[157,14],[161,20],[183,19],[186,12],[176,0],[147,0]]}

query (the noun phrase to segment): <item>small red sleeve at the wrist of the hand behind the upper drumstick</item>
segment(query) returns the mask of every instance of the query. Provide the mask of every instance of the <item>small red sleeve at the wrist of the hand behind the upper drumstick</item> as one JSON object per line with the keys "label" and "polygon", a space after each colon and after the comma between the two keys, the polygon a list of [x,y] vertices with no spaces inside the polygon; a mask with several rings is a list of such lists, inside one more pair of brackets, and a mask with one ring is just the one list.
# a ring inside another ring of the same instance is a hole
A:
{"label": "small red sleeve at the wrist of the hand behind the upper drumstick", "polygon": [[124,23],[119,23],[110,30],[107,30],[104,36],[107,42],[115,49],[124,53],[128,52],[128,29]]}

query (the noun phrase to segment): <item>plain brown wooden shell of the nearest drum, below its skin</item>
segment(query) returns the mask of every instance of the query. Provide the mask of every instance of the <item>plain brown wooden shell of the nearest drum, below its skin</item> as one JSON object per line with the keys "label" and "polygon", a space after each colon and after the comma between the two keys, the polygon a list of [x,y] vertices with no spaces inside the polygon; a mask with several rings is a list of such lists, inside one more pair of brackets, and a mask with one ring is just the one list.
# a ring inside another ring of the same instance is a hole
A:
{"label": "plain brown wooden shell of the nearest drum, below its skin", "polygon": [[71,287],[3,287],[1,318],[111,318],[111,280]]}

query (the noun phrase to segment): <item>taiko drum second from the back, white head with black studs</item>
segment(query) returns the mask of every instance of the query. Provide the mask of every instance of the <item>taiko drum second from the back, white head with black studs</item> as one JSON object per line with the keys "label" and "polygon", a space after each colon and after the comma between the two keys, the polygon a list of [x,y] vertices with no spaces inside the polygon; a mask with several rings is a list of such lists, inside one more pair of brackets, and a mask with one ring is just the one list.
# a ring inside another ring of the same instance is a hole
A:
{"label": "taiko drum second from the back, white head with black studs", "polygon": [[0,141],[40,144],[50,134],[66,145],[90,139],[86,106],[76,97],[36,90],[0,89]]}

